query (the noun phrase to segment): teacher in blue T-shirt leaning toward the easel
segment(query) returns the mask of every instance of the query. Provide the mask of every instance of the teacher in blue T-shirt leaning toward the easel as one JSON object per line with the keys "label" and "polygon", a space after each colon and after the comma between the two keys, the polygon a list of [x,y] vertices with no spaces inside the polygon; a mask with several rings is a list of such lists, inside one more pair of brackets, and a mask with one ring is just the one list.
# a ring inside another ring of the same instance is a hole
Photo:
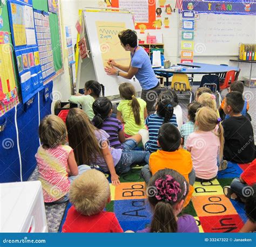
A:
{"label": "teacher in blue T-shirt leaning toward the easel", "polygon": [[135,76],[142,87],[142,99],[147,103],[146,108],[149,114],[155,110],[153,105],[158,94],[161,92],[160,84],[152,69],[149,55],[147,55],[142,47],[138,46],[138,37],[135,31],[131,29],[121,31],[118,37],[124,50],[131,53],[130,65],[119,65],[113,59],[109,59],[107,61],[109,66],[105,67],[105,72],[108,75],[122,76],[129,80]]}

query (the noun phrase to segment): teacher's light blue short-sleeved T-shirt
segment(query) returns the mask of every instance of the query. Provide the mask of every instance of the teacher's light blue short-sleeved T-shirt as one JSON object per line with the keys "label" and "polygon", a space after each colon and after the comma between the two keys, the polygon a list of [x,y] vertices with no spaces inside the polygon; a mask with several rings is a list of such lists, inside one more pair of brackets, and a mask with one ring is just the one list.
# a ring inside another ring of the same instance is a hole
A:
{"label": "teacher's light blue short-sleeved T-shirt", "polygon": [[139,48],[133,57],[131,55],[131,66],[139,69],[135,77],[142,89],[149,90],[157,86],[158,79],[152,69],[149,55],[143,48]]}

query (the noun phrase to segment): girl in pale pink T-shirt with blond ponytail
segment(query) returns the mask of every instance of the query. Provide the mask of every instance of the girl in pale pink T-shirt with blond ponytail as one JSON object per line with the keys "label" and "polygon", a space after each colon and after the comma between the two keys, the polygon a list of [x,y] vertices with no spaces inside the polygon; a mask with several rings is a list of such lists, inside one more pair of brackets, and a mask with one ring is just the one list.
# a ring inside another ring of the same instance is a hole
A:
{"label": "girl in pale pink T-shirt with blond ponytail", "polygon": [[188,136],[186,142],[187,151],[191,152],[196,181],[211,181],[217,177],[217,158],[222,159],[224,146],[220,121],[217,113],[209,107],[202,107],[196,113],[197,129]]}

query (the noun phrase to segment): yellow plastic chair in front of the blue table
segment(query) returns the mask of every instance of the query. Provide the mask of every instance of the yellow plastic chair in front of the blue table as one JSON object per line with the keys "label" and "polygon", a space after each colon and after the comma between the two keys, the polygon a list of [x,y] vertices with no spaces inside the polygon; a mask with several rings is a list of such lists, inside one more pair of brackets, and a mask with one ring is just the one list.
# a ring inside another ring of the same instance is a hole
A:
{"label": "yellow plastic chair in front of the blue table", "polygon": [[190,103],[193,101],[194,94],[188,76],[186,74],[173,74],[171,89],[180,94],[184,91],[190,94]]}

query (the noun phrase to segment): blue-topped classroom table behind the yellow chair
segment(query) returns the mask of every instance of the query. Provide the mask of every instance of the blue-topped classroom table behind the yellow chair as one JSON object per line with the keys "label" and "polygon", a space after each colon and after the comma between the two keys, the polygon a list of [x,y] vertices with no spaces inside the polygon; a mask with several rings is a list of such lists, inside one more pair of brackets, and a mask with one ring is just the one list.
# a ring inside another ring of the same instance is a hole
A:
{"label": "blue-topped classroom table behind the yellow chair", "polygon": [[[178,63],[177,65],[185,68],[183,71],[175,71],[174,69],[164,67],[153,68],[155,72],[166,73],[166,86],[169,86],[168,74],[221,74],[227,73],[229,70],[235,70],[235,72],[239,71],[238,67],[225,66],[225,65],[210,65],[208,63],[200,63],[200,62],[188,62],[188,63]],[[187,68],[186,68],[187,67]]]}

